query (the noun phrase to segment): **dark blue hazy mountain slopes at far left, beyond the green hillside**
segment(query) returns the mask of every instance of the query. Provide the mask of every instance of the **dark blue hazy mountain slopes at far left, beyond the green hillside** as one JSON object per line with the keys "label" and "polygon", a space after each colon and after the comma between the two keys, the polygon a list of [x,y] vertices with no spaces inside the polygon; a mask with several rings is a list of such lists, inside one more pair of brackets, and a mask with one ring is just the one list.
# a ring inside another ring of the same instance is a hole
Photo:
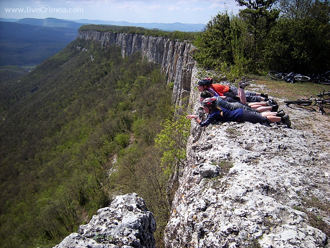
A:
{"label": "dark blue hazy mountain slopes at far left, beyond the green hillside", "polygon": [[0,22],[0,66],[39,64],[78,35],[78,28]]}

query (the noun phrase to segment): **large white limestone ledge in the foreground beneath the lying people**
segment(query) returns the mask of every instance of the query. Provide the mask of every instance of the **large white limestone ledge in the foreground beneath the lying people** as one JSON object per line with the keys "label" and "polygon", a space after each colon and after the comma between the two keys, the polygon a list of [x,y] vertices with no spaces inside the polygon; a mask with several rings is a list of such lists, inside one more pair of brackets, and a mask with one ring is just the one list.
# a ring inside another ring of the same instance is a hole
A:
{"label": "large white limestone ledge in the foreground beneath the lying people", "polygon": [[[191,92],[192,112],[202,117],[198,92]],[[200,128],[193,120],[165,247],[328,247],[327,235],[300,211],[308,199],[330,203],[330,152],[315,146],[319,141],[280,123]],[[231,166],[222,170],[222,163]],[[310,211],[329,223],[321,209]]]}

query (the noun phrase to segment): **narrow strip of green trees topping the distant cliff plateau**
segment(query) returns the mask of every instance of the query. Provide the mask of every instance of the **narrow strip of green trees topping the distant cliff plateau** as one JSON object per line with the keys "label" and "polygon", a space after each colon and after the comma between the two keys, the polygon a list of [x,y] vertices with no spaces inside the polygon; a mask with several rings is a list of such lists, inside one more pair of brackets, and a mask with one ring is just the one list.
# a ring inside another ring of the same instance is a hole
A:
{"label": "narrow strip of green trees topping the distant cliff plateau", "polygon": [[132,34],[132,35],[145,35],[154,37],[165,37],[168,39],[178,39],[180,41],[193,40],[196,32],[181,32],[181,31],[162,31],[159,29],[145,29],[141,27],[130,27],[130,26],[107,26],[107,25],[83,25],[79,29],[80,31],[95,30],[99,32],[113,32],[118,34]]}

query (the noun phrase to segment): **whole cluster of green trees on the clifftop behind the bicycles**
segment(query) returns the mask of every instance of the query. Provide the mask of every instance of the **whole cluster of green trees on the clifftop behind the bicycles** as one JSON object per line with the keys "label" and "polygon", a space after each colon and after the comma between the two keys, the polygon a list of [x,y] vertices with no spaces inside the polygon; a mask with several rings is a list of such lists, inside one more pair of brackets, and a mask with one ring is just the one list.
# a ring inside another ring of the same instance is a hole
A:
{"label": "whole cluster of green trees on the clifftop behind the bicycles", "polygon": [[329,1],[237,2],[245,7],[237,15],[219,12],[196,36],[194,57],[200,66],[231,80],[269,70],[329,71]]}

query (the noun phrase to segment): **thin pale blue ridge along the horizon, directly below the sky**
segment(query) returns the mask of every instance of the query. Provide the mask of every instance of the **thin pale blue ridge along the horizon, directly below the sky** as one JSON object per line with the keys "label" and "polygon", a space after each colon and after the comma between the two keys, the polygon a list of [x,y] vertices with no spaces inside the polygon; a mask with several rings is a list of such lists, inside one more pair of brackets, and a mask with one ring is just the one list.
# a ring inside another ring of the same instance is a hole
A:
{"label": "thin pale blue ridge along the horizon, directly below the sky", "polygon": [[199,32],[205,27],[205,24],[187,24],[187,23],[130,23],[130,22],[116,22],[116,21],[102,21],[102,20],[62,20],[56,18],[24,18],[24,19],[7,19],[0,18],[1,22],[16,22],[21,24],[29,24],[41,27],[61,27],[61,28],[76,28],[85,24],[102,24],[102,25],[116,25],[116,26],[132,26],[142,27],[145,29],[159,29],[163,31],[182,31],[182,32]]}

